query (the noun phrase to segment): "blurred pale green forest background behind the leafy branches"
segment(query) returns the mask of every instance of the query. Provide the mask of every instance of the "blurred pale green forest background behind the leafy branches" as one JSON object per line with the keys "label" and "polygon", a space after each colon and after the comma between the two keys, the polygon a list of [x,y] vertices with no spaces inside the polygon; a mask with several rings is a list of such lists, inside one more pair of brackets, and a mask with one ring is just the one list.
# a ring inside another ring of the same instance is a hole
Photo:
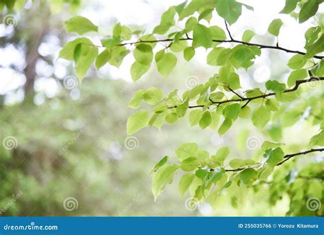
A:
{"label": "blurred pale green forest background behind the leafy branches", "polygon": [[[72,64],[58,58],[63,45],[76,37],[67,34],[64,22],[79,14],[98,25],[94,42],[111,34],[115,23],[132,30],[151,32],[170,5],[182,1],[27,1],[22,10],[0,14],[0,214],[3,216],[284,216],[289,195],[280,195],[269,206],[267,185],[261,191],[242,191],[240,202],[229,194],[214,205],[201,203],[195,210],[180,198],[177,175],[174,184],[154,202],[151,193],[154,164],[185,142],[197,142],[211,153],[229,146],[232,158],[257,158],[257,149],[268,136],[301,149],[318,132],[307,120],[283,131],[273,123],[258,132],[250,121],[239,120],[228,133],[189,127],[187,119],[176,125],[152,127],[126,135],[126,119],[134,110],[127,103],[139,88],[152,86],[165,93],[181,91],[205,82],[217,69],[206,65],[208,51],[199,48],[187,63],[178,53],[175,71],[164,79],[154,66],[133,83],[127,56],[120,68],[105,65],[91,69],[79,84]],[[243,8],[239,21],[230,27],[241,39],[245,29],[257,36],[252,42],[275,45],[267,34],[273,18],[284,25],[279,44],[303,51],[304,32],[323,18],[298,24],[289,15],[278,14],[284,1],[241,1],[254,7]],[[323,5],[322,5],[323,7]],[[323,8],[319,10],[323,12]],[[315,21],[315,22],[314,22]],[[215,16],[211,22],[224,28]],[[178,25],[179,27],[183,25]],[[230,45],[224,45],[228,47]],[[163,47],[163,45],[161,45]],[[130,47],[132,49],[132,47]],[[262,50],[254,66],[239,70],[243,89],[264,88],[268,79],[286,81],[286,61],[292,55]],[[321,92],[322,87],[313,89]],[[309,98],[309,97],[308,97]],[[307,132],[305,132],[307,129]],[[247,143],[247,139],[254,140]],[[318,156],[321,157],[321,156]],[[322,158],[323,160],[323,158]]]}

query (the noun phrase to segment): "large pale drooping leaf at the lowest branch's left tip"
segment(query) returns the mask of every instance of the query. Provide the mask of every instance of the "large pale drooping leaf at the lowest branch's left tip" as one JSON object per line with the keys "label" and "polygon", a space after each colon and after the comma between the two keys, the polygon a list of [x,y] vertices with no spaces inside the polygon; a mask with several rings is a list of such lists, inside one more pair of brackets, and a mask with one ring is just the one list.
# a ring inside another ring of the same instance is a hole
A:
{"label": "large pale drooping leaf at the lowest branch's left tip", "polygon": [[164,165],[161,167],[160,171],[154,173],[152,182],[154,201],[157,201],[157,197],[159,197],[159,195],[163,192],[165,186],[172,182],[174,174],[178,168],[179,166],[176,164]]}

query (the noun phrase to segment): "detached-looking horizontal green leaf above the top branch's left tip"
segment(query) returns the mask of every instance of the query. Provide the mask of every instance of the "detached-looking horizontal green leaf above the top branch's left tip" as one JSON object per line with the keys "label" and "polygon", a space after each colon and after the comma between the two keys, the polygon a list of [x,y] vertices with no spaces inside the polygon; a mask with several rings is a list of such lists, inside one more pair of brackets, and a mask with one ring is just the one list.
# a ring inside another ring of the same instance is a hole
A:
{"label": "detached-looking horizontal green leaf above the top branch's left tip", "polygon": [[98,31],[98,27],[83,16],[74,16],[73,18],[70,18],[70,20],[66,21],[65,26],[67,32],[75,32],[79,35],[87,32]]}

